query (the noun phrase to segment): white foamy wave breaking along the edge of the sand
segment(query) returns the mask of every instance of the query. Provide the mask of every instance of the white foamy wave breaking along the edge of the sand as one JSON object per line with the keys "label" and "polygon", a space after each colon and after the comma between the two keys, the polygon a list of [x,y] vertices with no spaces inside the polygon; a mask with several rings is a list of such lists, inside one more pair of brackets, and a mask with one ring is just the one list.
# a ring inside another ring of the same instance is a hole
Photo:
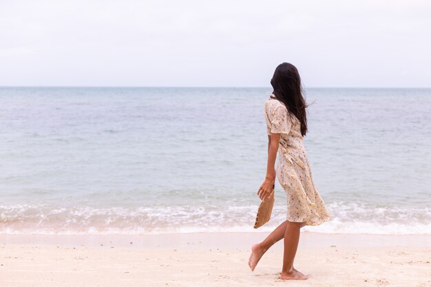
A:
{"label": "white foamy wave breaking along the edge of the sand", "polygon": [[[193,232],[250,232],[257,206],[154,205],[50,206],[12,204],[0,206],[3,234],[160,234]],[[431,209],[414,206],[331,202],[332,220],[304,231],[319,233],[428,234]],[[273,217],[257,231],[272,231],[286,217],[285,206],[274,206]]]}

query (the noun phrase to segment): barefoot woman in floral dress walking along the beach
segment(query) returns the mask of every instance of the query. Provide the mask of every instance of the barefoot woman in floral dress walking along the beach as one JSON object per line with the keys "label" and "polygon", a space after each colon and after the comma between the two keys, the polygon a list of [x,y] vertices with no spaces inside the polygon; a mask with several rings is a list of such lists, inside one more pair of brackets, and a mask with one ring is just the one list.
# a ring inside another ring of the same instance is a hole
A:
{"label": "barefoot woman in floral dress walking along the beach", "polygon": [[[299,242],[299,229],[330,220],[330,213],[319,195],[303,145],[307,132],[306,101],[302,96],[299,73],[294,65],[280,64],[271,79],[273,93],[264,103],[268,134],[268,164],[266,178],[257,195],[268,198],[275,177],[287,195],[286,221],[265,238],[253,244],[249,266],[253,271],[259,259],[275,242],[284,238],[284,257],[281,279],[307,279],[293,268]],[[278,162],[274,168],[278,153]]]}

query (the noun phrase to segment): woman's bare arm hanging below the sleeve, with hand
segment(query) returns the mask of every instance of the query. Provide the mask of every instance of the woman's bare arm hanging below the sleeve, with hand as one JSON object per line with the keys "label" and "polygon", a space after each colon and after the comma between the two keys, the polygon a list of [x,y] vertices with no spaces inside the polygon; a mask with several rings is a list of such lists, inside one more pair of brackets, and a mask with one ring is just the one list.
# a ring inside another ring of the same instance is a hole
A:
{"label": "woman's bare arm hanging below the sleeve, with hand", "polygon": [[268,162],[266,164],[265,181],[257,191],[257,195],[261,200],[268,198],[273,190],[275,181],[275,159],[277,158],[278,145],[280,142],[280,134],[272,134],[268,136]]}

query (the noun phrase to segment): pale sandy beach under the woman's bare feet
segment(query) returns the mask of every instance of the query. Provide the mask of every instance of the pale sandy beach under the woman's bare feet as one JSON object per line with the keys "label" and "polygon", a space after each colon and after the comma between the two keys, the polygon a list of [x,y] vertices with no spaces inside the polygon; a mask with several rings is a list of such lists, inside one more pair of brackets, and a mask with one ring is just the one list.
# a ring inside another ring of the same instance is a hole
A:
{"label": "pale sandy beach under the woman's bare feet", "polygon": [[247,265],[266,234],[0,235],[0,286],[431,286],[431,235],[302,232],[285,281],[282,241]]}

